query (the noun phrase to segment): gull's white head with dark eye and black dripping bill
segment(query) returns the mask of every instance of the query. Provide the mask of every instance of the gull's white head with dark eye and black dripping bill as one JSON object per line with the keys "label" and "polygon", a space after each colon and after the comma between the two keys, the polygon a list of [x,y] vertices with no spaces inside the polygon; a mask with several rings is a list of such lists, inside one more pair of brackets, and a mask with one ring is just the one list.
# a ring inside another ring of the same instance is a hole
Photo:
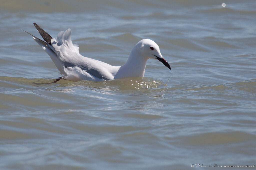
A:
{"label": "gull's white head with dark eye and black dripping bill", "polygon": [[166,67],[171,69],[169,63],[163,58],[158,45],[154,41],[150,39],[143,39],[139,41],[134,47],[140,51],[142,57],[145,57],[146,59],[157,59],[161,61]]}

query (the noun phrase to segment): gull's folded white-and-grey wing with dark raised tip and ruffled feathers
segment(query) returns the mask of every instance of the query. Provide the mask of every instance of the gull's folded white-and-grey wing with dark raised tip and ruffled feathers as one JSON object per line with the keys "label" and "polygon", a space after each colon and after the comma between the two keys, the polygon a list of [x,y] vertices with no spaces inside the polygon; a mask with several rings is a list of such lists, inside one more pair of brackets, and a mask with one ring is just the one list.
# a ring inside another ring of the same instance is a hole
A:
{"label": "gull's folded white-and-grey wing with dark raised tip and ruffled feathers", "polygon": [[107,63],[92,58],[83,57],[79,54],[79,47],[74,45],[71,41],[71,29],[67,29],[65,32],[61,31],[57,35],[57,40],[55,40],[55,38],[52,38],[47,32],[39,27],[39,25],[36,23],[34,23],[34,25],[45,42],[39,38],[37,39],[43,43],[46,43],[46,45],[50,47],[50,49],[62,61],[65,68],[80,67],[83,71],[86,71],[87,73],[100,79],[113,79],[111,71],[113,71],[113,69],[115,70],[115,66],[111,66]]}

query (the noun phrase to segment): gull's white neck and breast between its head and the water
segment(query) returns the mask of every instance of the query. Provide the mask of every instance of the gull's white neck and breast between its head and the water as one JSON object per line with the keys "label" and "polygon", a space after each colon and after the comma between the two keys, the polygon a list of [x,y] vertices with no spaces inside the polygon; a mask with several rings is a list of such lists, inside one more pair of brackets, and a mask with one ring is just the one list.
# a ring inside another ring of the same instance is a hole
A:
{"label": "gull's white neck and breast between its head and the water", "polygon": [[127,61],[120,67],[115,79],[122,77],[144,77],[147,58],[142,56],[141,51],[133,48]]}

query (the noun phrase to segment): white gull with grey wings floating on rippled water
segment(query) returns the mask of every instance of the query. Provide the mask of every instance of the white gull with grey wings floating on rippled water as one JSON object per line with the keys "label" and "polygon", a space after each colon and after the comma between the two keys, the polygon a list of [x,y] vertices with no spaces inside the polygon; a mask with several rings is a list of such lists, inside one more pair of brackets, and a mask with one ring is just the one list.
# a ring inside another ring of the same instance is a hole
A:
{"label": "white gull with grey wings floating on rippled water", "polygon": [[62,74],[59,79],[76,82],[81,80],[107,81],[123,77],[144,77],[146,61],[150,58],[161,61],[171,69],[169,63],[160,53],[158,45],[150,39],[139,41],[132,48],[123,66],[111,66],[105,62],[82,56],[79,53],[79,46],[71,41],[70,28],[66,31],[60,31],[56,40],[36,23],[34,25],[44,41],[27,33],[32,35],[33,39],[50,56]]}

